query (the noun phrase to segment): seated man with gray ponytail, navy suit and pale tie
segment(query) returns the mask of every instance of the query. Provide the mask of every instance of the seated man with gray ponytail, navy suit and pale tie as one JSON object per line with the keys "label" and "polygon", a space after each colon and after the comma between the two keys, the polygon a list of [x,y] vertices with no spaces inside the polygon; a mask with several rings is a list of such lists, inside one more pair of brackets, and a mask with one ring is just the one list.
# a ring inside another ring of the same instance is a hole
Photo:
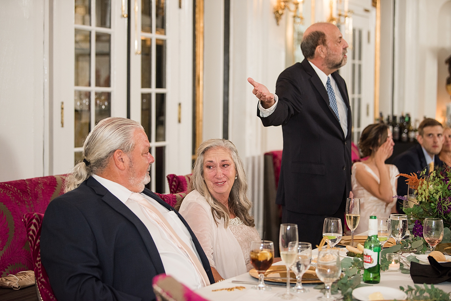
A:
{"label": "seated man with gray ponytail, navy suit and pale tie", "polygon": [[125,118],[101,120],[87,136],[42,222],[41,261],[58,300],[155,300],[161,273],[191,289],[214,282],[184,218],[144,188],[149,148],[143,127]]}

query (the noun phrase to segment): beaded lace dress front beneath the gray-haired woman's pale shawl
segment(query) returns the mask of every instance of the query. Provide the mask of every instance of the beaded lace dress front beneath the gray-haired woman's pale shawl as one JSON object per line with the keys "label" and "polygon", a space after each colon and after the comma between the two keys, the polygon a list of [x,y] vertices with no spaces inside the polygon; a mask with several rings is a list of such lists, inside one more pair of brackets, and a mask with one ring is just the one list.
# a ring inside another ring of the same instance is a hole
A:
{"label": "beaded lace dress front beneath the gray-haired woman's pale shawl", "polygon": [[249,272],[253,268],[250,259],[251,241],[259,241],[260,234],[258,234],[255,227],[244,225],[243,221],[238,217],[230,219],[229,228],[243,251],[244,263],[246,264],[246,270]]}

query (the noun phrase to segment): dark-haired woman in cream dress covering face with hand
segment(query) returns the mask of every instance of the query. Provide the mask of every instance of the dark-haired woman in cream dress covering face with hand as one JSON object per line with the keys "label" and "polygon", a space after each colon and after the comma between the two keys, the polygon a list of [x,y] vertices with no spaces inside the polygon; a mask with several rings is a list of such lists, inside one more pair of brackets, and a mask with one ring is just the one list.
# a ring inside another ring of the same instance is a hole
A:
{"label": "dark-haired woman in cream dress covering face with hand", "polygon": [[382,123],[368,125],[359,140],[362,162],[352,166],[351,184],[354,198],[360,199],[360,222],[356,233],[368,230],[370,215],[388,218],[396,213],[396,195],[398,168],[385,164],[393,153],[393,137],[388,126]]}

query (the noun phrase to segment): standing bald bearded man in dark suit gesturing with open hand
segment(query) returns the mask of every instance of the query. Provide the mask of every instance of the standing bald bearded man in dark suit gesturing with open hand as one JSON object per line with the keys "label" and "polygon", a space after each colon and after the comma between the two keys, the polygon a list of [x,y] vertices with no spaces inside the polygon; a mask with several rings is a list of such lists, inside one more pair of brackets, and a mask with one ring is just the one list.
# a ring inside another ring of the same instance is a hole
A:
{"label": "standing bald bearded man in dark suit gesturing with open hand", "polygon": [[[285,69],[272,94],[249,78],[264,126],[282,125],[284,147],[276,203],[282,222],[298,224],[299,241],[322,238],[324,218],[341,218],[351,190],[351,109],[345,80],[348,43],[330,23],[304,32],[305,59]],[[352,193],[351,193],[352,194]]]}

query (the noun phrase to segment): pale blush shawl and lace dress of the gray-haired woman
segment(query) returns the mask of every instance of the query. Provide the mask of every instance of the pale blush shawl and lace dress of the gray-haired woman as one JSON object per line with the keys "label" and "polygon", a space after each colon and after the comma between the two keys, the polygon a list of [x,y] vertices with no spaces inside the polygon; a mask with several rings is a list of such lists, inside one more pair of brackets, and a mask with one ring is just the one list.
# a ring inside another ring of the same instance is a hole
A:
{"label": "pale blush shawl and lace dress of the gray-haired woman", "polygon": [[246,273],[250,268],[250,242],[259,240],[255,227],[243,224],[239,218],[231,219],[229,227],[224,220],[217,224],[207,200],[197,190],[183,200],[179,213],[196,235],[210,266],[225,279]]}

